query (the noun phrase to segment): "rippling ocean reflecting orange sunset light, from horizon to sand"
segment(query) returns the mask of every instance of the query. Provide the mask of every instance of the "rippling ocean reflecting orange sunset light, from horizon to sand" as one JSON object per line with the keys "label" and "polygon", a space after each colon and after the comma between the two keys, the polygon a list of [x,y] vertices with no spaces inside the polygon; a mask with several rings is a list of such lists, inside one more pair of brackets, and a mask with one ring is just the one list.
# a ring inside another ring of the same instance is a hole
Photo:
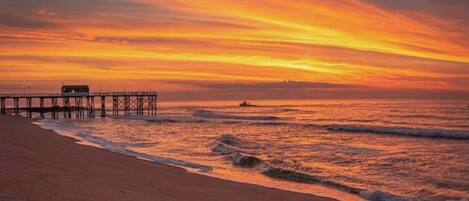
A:
{"label": "rippling ocean reflecting orange sunset light, from horizon to sand", "polygon": [[469,101],[162,102],[157,117],[44,119],[143,160],[341,200],[469,198]]}

